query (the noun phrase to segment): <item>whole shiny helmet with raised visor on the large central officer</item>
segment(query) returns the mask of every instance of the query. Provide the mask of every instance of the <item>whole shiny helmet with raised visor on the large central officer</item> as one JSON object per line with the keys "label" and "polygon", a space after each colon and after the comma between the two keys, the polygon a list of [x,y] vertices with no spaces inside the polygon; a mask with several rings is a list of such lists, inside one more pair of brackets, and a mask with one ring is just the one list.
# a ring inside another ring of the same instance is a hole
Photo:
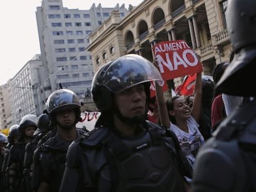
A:
{"label": "whole shiny helmet with raised visor on the large central officer", "polygon": [[96,72],[92,81],[93,101],[99,111],[113,109],[113,93],[120,93],[128,88],[163,79],[158,69],[150,61],[137,54],[127,54],[113,62],[108,62]]}

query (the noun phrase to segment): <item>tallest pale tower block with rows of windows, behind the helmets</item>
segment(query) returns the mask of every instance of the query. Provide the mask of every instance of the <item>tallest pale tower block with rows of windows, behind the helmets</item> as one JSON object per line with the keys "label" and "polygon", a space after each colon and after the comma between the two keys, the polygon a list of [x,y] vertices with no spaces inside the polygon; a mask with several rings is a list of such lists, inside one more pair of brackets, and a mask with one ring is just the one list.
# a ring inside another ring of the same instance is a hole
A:
{"label": "tallest pale tower block with rows of windows, behind the helmets", "polygon": [[[86,3],[86,1],[85,1]],[[67,9],[61,0],[43,0],[37,7],[36,19],[43,65],[48,69],[51,91],[68,88],[82,102],[90,98],[93,79],[92,56],[85,50],[90,33],[118,10],[121,18],[129,11],[124,4],[113,8],[97,7],[89,10]],[[90,99],[89,99],[90,100]]]}

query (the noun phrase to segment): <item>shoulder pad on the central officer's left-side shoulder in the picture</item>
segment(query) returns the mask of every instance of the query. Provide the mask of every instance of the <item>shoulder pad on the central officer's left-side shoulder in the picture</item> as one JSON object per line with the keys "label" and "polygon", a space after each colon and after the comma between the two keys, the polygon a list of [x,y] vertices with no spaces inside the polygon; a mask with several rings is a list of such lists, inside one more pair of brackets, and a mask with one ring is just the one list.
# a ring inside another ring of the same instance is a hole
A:
{"label": "shoulder pad on the central officer's left-side shoulder in the picture", "polygon": [[83,146],[96,146],[108,134],[108,128],[100,127],[88,132],[80,138],[80,144]]}

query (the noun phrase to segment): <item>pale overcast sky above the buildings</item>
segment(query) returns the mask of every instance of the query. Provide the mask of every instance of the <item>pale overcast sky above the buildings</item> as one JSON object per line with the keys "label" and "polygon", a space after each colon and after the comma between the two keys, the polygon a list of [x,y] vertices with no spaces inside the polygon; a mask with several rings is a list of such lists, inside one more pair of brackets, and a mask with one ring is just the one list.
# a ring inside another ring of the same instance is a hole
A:
{"label": "pale overcast sky above the buildings", "polygon": [[[93,2],[102,7],[114,7],[123,3],[138,6],[143,0],[62,0],[69,9],[90,9]],[[40,54],[36,26],[36,7],[41,0],[0,1],[0,85],[14,77],[35,54]]]}

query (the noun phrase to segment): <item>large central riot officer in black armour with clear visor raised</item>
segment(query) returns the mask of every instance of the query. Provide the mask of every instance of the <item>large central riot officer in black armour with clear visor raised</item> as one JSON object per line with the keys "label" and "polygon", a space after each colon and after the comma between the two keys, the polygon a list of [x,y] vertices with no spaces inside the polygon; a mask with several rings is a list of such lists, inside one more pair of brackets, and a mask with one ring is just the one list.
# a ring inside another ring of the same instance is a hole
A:
{"label": "large central riot officer in black armour with clear visor raised", "polygon": [[185,191],[191,167],[176,136],[145,120],[152,80],[163,81],[136,54],[98,70],[92,94],[101,116],[70,145],[60,191]]}

